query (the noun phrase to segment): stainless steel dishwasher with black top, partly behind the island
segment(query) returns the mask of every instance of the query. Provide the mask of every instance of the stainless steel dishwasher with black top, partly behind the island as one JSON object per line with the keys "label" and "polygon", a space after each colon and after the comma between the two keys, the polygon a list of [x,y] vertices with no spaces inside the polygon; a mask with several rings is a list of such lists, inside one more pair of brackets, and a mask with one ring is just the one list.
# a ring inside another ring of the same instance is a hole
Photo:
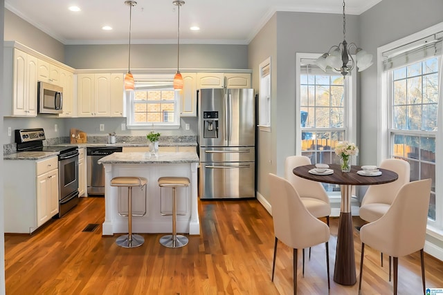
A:
{"label": "stainless steel dishwasher with black top, partly behind the island", "polygon": [[88,146],[87,147],[87,185],[88,196],[105,195],[105,173],[97,161],[111,153],[121,152],[121,146]]}

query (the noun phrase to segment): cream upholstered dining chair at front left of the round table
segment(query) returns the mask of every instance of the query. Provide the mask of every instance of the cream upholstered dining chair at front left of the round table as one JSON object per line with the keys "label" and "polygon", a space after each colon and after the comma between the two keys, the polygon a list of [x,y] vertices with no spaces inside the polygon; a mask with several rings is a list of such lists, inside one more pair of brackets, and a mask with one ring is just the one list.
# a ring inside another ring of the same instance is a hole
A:
{"label": "cream upholstered dining chair at front left of the round table", "polygon": [[271,280],[274,280],[278,240],[293,248],[293,294],[297,294],[297,250],[325,242],[329,289],[329,227],[309,213],[296,189],[286,179],[269,173],[269,188],[275,235]]}

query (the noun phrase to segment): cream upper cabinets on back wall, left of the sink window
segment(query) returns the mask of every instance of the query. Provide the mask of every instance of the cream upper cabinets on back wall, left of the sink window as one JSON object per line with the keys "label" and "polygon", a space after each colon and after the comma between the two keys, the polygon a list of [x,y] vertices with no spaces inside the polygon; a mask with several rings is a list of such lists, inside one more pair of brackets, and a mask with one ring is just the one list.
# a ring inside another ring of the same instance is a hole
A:
{"label": "cream upper cabinets on back wall, left of the sink window", "polygon": [[78,117],[123,117],[123,74],[78,74],[77,81]]}

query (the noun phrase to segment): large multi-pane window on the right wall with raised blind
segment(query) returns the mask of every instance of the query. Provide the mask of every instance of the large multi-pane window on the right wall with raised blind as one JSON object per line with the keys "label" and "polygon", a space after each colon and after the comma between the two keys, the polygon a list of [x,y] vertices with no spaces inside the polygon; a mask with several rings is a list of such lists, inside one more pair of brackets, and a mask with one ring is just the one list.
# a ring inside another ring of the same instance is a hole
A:
{"label": "large multi-pane window on the right wall with raised blind", "polygon": [[410,181],[433,180],[428,225],[440,229],[442,192],[435,180],[442,167],[435,159],[443,156],[438,147],[442,135],[437,132],[437,122],[442,120],[438,110],[442,99],[442,30],[440,24],[379,48],[380,99],[388,110],[382,138],[387,149],[380,153],[386,154],[383,158],[408,161]]}

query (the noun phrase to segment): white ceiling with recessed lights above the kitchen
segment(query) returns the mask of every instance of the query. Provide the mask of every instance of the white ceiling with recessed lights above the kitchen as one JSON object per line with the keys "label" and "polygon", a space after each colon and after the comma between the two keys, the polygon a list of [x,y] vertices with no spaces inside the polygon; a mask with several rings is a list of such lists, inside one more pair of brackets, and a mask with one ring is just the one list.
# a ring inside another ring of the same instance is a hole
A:
{"label": "white ceiling with recessed lights above the kitchen", "polygon": [[[185,0],[180,8],[182,44],[248,44],[276,11],[343,12],[341,0]],[[381,0],[347,0],[346,14],[360,15]],[[69,6],[80,12],[71,12]],[[125,0],[5,0],[5,7],[63,44],[127,44]],[[172,0],[137,0],[132,44],[177,43]],[[113,30],[102,30],[102,26]],[[191,26],[199,26],[197,32]]]}

